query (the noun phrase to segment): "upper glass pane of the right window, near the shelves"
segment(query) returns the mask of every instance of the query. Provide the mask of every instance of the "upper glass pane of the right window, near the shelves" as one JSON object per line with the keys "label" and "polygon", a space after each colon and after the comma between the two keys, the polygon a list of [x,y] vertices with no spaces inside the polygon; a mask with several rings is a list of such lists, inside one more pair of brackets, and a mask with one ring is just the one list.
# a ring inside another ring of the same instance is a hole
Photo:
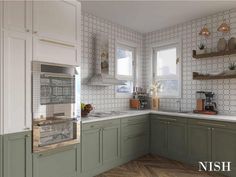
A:
{"label": "upper glass pane of the right window, near the shelves", "polygon": [[157,51],[157,76],[176,74],[176,48]]}

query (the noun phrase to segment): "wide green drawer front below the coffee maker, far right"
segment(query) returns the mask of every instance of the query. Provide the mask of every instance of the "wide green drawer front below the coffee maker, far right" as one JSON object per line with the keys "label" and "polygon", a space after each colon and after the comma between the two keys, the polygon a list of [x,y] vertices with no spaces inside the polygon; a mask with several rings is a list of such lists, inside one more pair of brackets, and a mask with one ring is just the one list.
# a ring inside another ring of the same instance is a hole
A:
{"label": "wide green drawer front below the coffee maker, far right", "polygon": [[236,123],[231,123],[231,122],[203,120],[203,119],[188,119],[188,123],[192,125],[199,125],[213,128],[236,129]]}

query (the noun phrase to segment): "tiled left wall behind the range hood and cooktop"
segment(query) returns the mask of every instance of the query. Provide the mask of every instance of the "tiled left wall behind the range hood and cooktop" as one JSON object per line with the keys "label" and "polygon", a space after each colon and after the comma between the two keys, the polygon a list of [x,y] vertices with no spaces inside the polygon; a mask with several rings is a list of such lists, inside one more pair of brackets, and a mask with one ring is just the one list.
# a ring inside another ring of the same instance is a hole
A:
{"label": "tiled left wall behind the range hood and cooktop", "polygon": [[88,86],[86,81],[92,76],[95,63],[93,38],[105,34],[109,38],[109,74],[115,75],[115,41],[125,40],[138,46],[138,85],[142,85],[142,41],[143,35],[131,29],[100,19],[88,13],[82,14],[82,59],[81,59],[81,102],[92,103],[96,111],[125,110],[129,108],[128,98],[117,98],[115,86]]}

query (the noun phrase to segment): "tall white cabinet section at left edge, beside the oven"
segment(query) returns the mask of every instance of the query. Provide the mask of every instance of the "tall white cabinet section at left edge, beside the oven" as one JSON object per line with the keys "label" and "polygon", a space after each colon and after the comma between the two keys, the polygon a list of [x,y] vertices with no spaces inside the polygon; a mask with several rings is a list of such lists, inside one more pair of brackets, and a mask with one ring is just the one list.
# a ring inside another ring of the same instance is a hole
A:
{"label": "tall white cabinet section at left edge, beside the oven", "polygon": [[2,1],[2,132],[31,129],[32,2]]}

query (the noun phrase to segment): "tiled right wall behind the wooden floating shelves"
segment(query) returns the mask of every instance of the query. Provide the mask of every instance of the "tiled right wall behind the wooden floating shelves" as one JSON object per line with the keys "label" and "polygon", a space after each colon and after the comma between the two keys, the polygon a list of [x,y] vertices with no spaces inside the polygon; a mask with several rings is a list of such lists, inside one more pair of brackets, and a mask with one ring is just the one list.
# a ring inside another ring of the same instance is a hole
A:
{"label": "tiled right wall behind the wooden floating shelves", "polygon": [[[236,79],[224,80],[192,80],[192,72],[202,73],[210,71],[222,71],[228,69],[229,59],[236,62],[236,56],[213,57],[208,59],[196,60],[192,58],[192,50],[202,40],[198,35],[204,24],[207,24],[211,36],[207,40],[208,48],[216,50],[217,41],[222,34],[217,32],[218,26],[226,19],[231,26],[231,33],[225,36],[236,37],[236,9],[218,13],[204,18],[192,20],[183,24],[175,25],[166,29],[145,34],[144,39],[144,61],[143,74],[144,85],[149,87],[152,82],[150,72],[152,70],[151,45],[161,43],[167,40],[182,39],[182,108],[184,110],[193,110],[195,108],[195,93],[198,90],[213,91],[216,93],[216,102],[219,112],[222,114],[236,114]],[[177,109],[176,99],[161,99],[161,109]]]}

